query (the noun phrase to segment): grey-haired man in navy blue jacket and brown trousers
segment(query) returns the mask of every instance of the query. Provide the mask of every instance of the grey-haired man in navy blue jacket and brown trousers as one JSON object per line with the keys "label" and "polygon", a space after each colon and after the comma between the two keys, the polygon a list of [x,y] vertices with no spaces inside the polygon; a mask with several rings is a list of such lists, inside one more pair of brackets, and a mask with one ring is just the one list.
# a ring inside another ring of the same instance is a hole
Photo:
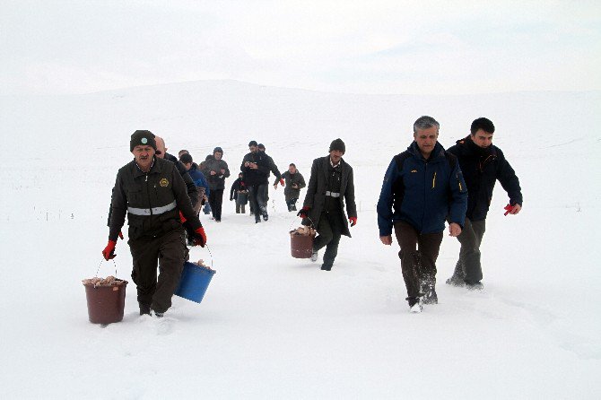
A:
{"label": "grey-haired man in navy blue jacket and brown trousers", "polygon": [[466,216],[466,183],[457,158],[438,143],[439,129],[432,117],[415,121],[414,143],[390,162],[378,201],[379,239],[391,245],[395,228],[411,312],[438,303],[436,259],[445,220],[457,237]]}

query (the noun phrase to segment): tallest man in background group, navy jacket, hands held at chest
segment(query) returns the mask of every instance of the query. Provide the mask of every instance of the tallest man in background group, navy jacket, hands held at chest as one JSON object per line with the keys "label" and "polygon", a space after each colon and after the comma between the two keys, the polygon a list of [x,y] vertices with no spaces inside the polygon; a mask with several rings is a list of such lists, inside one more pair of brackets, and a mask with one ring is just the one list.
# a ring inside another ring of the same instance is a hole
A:
{"label": "tallest man in background group, navy jacket, hands held at chest", "polygon": [[265,152],[259,152],[256,141],[248,143],[248,154],[242,159],[240,170],[244,174],[244,183],[248,187],[249,200],[252,204],[251,212],[255,214],[255,223],[267,221],[266,187],[269,185],[269,161]]}

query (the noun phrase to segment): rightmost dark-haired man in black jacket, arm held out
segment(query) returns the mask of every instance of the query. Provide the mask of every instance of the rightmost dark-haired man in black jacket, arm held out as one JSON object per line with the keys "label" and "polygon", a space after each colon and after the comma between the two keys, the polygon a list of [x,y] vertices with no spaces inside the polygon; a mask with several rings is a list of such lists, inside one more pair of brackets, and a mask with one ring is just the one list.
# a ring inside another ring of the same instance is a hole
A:
{"label": "rightmost dark-haired man in black jacket, arm held out", "polygon": [[455,272],[447,280],[448,284],[466,286],[480,290],[483,284],[482,265],[480,264],[480,244],[486,226],[486,214],[492,199],[492,189],[497,179],[510,197],[505,207],[509,214],[517,214],[522,209],[522,192],[516,172],[505,160],[501,149],[492,144],[494,125],[487,118],[478,118],[472,122],[470,135],[458,140],[447,152],[455,154],[464,178],[467,190],[466,225],[457,236],[461,249]]}

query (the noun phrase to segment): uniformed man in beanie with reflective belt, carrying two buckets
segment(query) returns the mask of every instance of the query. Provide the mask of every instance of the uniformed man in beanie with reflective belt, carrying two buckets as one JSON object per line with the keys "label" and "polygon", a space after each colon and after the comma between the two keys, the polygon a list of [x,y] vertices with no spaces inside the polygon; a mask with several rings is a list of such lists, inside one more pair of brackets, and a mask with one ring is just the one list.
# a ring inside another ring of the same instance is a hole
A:
{"label": "uniformed man in beanie with reflective belt, carrying two buckets", "polygon": [[132,279],[137,287],[140,315],[150,315],[152,310],[156,317],[162,317],[171,306],[187,260],[182,221],[195,246],[204,247],[206,235],[176,165],[155,156],[154,135],[150,131],[135,131],[129,150],[134,160],[118,170],[110,204],[109,243],[102,256],[107,261],[116,256],[118,234],[127,214],[127,243],[134,261]]}

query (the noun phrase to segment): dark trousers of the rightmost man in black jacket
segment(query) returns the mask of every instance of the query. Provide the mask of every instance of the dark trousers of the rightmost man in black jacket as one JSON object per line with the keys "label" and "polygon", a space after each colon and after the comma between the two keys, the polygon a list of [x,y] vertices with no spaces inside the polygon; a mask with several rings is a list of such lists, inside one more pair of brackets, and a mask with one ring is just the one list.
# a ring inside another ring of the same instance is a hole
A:
{"label": "dark trousers of the rightmost man in black jacket", "polygon": [[465,226],[461,230],[461,234],[457,236],[461,248],[453,273],[455,279],[465,280],[468,283],[476,283],[482,280],[480,244],[485,230],[486,220],[472,222],[466,218]]}

